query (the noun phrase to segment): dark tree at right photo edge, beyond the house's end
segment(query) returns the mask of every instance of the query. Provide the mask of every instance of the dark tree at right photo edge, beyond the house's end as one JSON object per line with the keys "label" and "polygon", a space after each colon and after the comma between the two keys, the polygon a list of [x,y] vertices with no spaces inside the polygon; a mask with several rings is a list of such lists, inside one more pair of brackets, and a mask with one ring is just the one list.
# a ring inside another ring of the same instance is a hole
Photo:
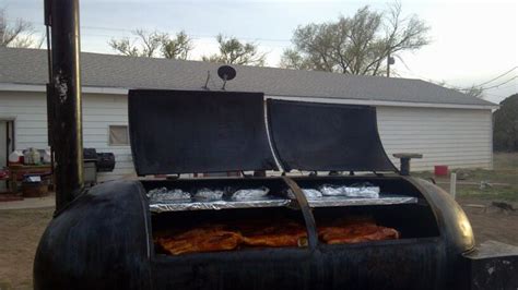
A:
{"label": "dark tree at right photo edge, beyond the house's end", "polygon": [[495,111],[493,147],[496,152],[518,152],[518,94],[501,102]]}

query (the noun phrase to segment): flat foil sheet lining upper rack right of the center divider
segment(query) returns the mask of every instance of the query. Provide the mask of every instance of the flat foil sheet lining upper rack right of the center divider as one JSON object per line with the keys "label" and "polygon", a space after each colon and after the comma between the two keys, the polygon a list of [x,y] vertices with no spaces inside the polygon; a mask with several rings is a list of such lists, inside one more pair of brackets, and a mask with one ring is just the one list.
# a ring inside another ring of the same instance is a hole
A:
{"label": "flat foil sheet lining upper rack right of the center divider", "polygon": [[393,204],[415,204],[417,197],[403,195],[380,195],[377,198],[323,196],[317,200],[308,200],[310,207],[333,207],[333,206],[358,206],[358,205],[393,205]]}

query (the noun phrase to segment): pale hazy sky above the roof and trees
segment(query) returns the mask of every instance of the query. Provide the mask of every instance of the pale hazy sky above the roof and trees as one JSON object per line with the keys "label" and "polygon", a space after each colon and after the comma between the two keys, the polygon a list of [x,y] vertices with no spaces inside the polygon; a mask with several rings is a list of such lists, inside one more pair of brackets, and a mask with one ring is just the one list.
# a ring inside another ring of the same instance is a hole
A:
{"label": "pale hazy sky above the roof and trees", "polygon": [[[43,0],[0,0],[8,21],[31,21],[43,34]],[[455,87],[481,85],[487,100],[499,102],[518,93],[518,1],[401,0],[403,15],[417,15],[429,27],[432,43],[399,53],[392,67],[400,77]],[[82,51],[115,53],[111,38],[132,37],[144,28],[193,38],[192,59],[217,51],[217,34],[254,41],[276,67],[291,47],[298,25],[351,16],[360,8],[386,10],[389,1],[348,0],[80,0]],[[507,72],[507,73],[506,73]],[[495,78],[495,80],[493,80]]]}

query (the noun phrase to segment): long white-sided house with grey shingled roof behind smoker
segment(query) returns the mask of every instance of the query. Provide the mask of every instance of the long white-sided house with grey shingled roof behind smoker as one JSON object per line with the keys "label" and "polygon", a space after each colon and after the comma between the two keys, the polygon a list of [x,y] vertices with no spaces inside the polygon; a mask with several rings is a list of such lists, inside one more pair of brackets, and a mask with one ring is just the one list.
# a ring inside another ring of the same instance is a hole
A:
{"label": "long white-sided house with grey shingled roof behind smoker", "polygon": [[[97,53],[82,53],[81,61],[84,146],[116,154],[116,169],[102,180],[133,173],[129,88],[204,89],[207,80],[210,89],[222,87],[215,63]],[[233,67],[237,76],[227,90],[375,106],[388,155],[424,155],[412,161],[413,170],[492,168],[492,110],[497,108],[492,102],[420,80]],[[0,166],[13,148],[47,147],[47,72],[46,50],[0,48]]]}

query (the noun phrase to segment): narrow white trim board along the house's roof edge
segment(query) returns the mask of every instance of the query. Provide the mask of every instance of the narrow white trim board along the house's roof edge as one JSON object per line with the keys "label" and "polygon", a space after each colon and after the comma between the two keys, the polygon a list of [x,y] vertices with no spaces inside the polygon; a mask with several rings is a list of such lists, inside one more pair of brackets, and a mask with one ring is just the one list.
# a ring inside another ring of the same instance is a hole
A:
{"label": "narrow white trim board along the house's roof edge", "polygon": [[[107,95],[128,95],[129,88],[123,87],[96,87],[83,86],[82,93],[86,94],[107,94]],[[0,83],[0,92],[46,92],[45,85],[31,84],[8,84]],[[480,109],[496,110],[499,106],[486,105],[460,105],[460,104],[436,104],[436,102],[412,102],[412,101],[387,101],[369,99],[341,99],[326,97],[296,97],[296,96],[264,96],[271,99],[285,99],[326,104],[345,104],[345,105],[367,105],[367,106],[387,106],[387,107],[414,107],[414,108],[451,108],[451,109]]]}

